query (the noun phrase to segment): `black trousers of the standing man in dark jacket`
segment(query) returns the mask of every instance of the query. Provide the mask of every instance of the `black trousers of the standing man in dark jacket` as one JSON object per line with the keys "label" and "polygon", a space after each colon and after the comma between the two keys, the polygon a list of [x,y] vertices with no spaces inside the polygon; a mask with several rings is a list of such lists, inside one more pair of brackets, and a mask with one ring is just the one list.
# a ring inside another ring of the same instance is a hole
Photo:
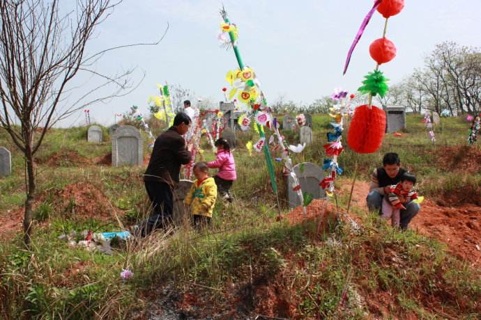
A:
{"label": "black trousers of the standing man in dark jacket", "polygon": [[174,212],[174,196],[171,186],[165,182],[146,181],[145,189],[151,199],[153,212],[142,222],[142,236],[171,224]]}

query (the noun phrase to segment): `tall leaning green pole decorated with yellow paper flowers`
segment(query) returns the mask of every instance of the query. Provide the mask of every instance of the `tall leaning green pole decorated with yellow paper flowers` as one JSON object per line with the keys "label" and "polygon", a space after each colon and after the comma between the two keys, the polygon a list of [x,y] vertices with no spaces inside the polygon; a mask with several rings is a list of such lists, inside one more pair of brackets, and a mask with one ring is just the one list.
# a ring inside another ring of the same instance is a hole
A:
{"label": "tall leaning green pole decorated with yellow paper flowers", "polygon": [[[275,172],[273,166],[272,157],[270,157],[270,152],[268,148],[268,143],[266,142],[266,134],[264,127],[273,129],[275,136],[279,141],[279,145],[282,147],[282,157],[284,159],[284,165],[289,170],[289,175],[294,181],[294,191],[298,194],[300,198],[300,203],[303,204],[304,212],[306,212],[306,207],[308,203],[305,202],[303,197],[303,192],[300,189],[300,183],[294,173],[292,160],[289,157],[289,149],[284,145],[284,138],[280,135],[277,120],[273,117],[272,113],[267,106],[266,98],[264,93],[259,88],[259,81],[255,77],[254,71],[250,67],[245,67],[243,60],[241,58],[241,53],[236,44],[237,39],[237,27],[231,24],[227,18],[227,12],[222,7],[221,10],[222,19],[224,19],[224,24],[222,24],[221,29],[223,33],[219,36],[219,39],[225,44],[229,44],[234,49],[234,54],[236,54],[236,60],[239,66],[238,70],[230,71],[227,74],[227,81],[234,88],[229,93],[229,99],[232,99],[236,93],[238,93],[238,99],[248,104],[252,107],[254,118],[256,120],[255,126],[256,131],[259,131],[260,139],[253,145],[254,149],[257,151],[264,151],[264,156],[266,157],[266,164],[268,168],[268,173],[270,177],[270,184],[277,198],[277,205],[279,206],[279,198],[277,197],[277,183],[275,181]],[[228,35],[228,38],[225,35]],[[238,92],[239,91],[239,92]],[[291,146],[292,147],[292,146]],[[296,152],[301,152],[303,147],[291,148],[291,150],[296,150]]]}

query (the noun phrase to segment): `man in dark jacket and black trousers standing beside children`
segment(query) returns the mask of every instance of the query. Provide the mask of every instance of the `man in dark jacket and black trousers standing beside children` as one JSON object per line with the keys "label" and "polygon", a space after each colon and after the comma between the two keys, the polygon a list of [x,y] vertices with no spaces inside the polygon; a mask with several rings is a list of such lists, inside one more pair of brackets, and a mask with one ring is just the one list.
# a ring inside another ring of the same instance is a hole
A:
{"label": "man in dark jacket and black trousers standing beside children", "polygon": [[189,130],[190,123],[187,114],[177,113],[174,125],[155,139],[144,174],[145,189],[152,201],[153,214],[144,221],[142,235],[157,227],[165,227],[172,220],[172,189],[178,183],[181,165],[189,163],[191,157],[182,137]]}

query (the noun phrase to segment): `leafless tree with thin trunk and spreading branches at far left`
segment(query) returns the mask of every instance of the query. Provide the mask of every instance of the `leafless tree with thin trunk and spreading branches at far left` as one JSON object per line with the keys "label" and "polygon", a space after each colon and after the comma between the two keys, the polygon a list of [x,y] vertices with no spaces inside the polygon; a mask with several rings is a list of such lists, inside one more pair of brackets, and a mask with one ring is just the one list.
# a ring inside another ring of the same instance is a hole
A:
{"label": "leafless tree with thin trunk and spreading branches at far left", "polygon": [[[26,162],[23,227],[27,245],[36,195],[33,156],[47,130],[89,104],[125,95],[134,88],[129,77],[132,70],[114,77],[93,70],[104,54],[121,47],[160,42],[114,47],[87,56],[86,45],[93,32],[119,3],[121,0],[78,0],[75,10],[60,15],[59,0],[0,1],[0,125]],[[73,95],[80,88],[74,79],[79,79],[79,74],[96,77],[98,85],[76,99]],[[112,85],[112,94],[95,97],[100,88]]]}

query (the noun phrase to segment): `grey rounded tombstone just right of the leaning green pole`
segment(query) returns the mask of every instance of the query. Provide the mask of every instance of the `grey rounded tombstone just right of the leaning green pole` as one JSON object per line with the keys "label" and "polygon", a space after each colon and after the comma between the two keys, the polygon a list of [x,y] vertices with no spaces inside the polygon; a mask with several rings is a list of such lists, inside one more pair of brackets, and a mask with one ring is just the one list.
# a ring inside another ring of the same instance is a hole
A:
{"label": "grey rounded tombstone just right of the leaning green pole", "polygon": [[[294,166],[294,173],[296,173],[299,179],[300,189],[303,193],[310,193],[314,199],[326,197],[326,193],[319,186],[319,183],[324,178],[323,170],[319,166],[311,162],[299,163],[297,166]],[[301,205],[297,192],[292,190],[293,187],[294,179],[289,175],[287,177],[287,200],[291,208]]]}

